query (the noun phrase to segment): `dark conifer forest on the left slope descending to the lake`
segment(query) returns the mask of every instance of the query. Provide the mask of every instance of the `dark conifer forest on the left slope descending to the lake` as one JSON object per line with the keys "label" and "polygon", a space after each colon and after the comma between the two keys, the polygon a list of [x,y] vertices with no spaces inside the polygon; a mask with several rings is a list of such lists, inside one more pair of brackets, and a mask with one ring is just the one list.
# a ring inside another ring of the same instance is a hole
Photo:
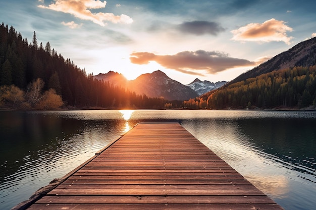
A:
{"label": "dark conifer forest on the left slope descending to the lake", "polygon": [[[13,90],[12,87],[26,94],[31,85],[40,79],[43,82],[41,91],[54,89],[55,94],[61,95],[65,107],[121,109],[182,106],[182,102],[137,95],[109,82],[94,80],[92,76],[51,49],[49,42],[45,46],[42,43],[38,45],[35,31],[29,43],[12,26],[8,28],[4,23],[0,25],[0,86],[5,94]],[[0,105],[1,102],[12,105],[8,97],[0,96]]]}

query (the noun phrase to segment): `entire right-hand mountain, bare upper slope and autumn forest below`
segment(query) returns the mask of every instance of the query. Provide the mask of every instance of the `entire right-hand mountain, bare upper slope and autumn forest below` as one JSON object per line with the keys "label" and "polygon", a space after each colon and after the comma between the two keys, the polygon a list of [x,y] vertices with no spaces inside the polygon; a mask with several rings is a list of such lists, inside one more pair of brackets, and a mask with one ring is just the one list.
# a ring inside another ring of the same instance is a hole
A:
{"label": "entire right-hand mountain, bare upper slope and autumn forest below", "polygon": [[[195,99],[211,109],[316,107],[316,37],[302,41]],[[193,103],[192,103],[193,104]],[[192,104],[186,106],[192,107]]]}

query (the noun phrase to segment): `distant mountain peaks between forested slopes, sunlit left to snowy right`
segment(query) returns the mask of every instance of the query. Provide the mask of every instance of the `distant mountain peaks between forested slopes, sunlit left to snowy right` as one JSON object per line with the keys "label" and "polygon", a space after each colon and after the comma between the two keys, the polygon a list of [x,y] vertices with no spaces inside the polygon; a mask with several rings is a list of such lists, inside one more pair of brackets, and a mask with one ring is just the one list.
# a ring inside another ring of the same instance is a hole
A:
{"label": "distant mountain peaks between forested slopes, sunlit left to snowy right", "polygon": [[107,81],[114,86],[121,86],[136,94],[144,94],[148,97],[164,98],[167,100],[188,100],[211,90],[215,90],[225,85],[227,82],[212,83],[195,79],[188,85],[183,85],[178,81],[169,78],[160,70],[153,73],[143,74],[135,80],[128,81],[122,74],[110,71],[107,74],[94,76],[97,80]]}

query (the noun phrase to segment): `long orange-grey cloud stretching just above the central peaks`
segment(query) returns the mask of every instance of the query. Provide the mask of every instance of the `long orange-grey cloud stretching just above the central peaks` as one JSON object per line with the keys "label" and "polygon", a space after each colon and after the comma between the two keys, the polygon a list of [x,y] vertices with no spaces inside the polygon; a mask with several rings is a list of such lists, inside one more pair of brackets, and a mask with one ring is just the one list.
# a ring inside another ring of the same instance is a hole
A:
{"label": "long orange-grey cloud stretching just above the central peaks", "polygon": [[150,52],[134,52],[130,55],[130,61],[135,64],[148,64],[150,61],[155,61],[165,68],[201,76],[202,71],[217,74],[229,68],[257,65],[262,60],[249,61],[230,57],[224,52],[204,50],[183,51],[175,55],[156,55]]}

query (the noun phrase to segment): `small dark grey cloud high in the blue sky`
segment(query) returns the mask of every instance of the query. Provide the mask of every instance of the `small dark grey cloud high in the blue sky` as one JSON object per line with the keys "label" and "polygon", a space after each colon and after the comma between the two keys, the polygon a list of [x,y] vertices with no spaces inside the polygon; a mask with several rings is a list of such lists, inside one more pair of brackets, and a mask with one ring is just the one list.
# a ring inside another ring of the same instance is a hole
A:
{"label": "small dark grey cloud high in the blue sky", "polygon": [[222,28],[220,24],[209,21],[183,22],[179,25],[179,30],[183,33],[190,33],[195,35],[217,35],[219,32],[225,31],[225,29]]}

